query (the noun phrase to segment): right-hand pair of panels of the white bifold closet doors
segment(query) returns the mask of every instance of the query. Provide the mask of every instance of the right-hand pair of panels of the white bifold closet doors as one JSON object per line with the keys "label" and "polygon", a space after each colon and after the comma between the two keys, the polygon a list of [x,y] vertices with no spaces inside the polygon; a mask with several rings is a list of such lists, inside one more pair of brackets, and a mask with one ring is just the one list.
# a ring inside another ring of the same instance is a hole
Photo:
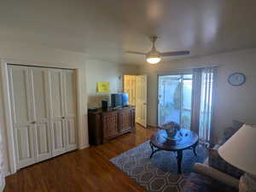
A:
{"label": "right-hand pair of panels of the white bifold closet doors", "polygon": [[55,156],[77,148],[73,71],[50,70],[49,86],[52,153]]}

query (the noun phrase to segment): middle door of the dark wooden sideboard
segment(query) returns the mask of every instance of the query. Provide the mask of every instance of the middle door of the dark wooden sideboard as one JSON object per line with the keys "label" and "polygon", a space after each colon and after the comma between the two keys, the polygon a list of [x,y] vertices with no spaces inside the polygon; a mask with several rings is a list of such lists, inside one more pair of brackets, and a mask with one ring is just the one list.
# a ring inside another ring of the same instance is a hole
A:
{"label": "middle door of the dark wooden sideboard", "polygon": [[119,134],[118,129],[118,113],[103,113],[102,114],[102,126],[103,126],[103,142],[107,142],[108,139],[116,137]]}

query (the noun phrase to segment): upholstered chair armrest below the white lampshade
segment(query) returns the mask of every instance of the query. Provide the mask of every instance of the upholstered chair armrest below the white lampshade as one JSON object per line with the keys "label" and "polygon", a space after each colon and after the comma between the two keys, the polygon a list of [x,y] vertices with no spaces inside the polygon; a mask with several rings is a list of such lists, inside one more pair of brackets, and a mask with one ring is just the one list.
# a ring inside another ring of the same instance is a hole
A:
{"label": "upholstered chair armrest below the white lampshade", "polygon": [[235,189],[239,189],[239,180],[235,177],[231,177],[224,172],[220,172],[217,169],[212,168],[211,166],[207,166],[201,163],[195,163],[193,167],[195,172],[201,173],[205,176],[212,177],[215,180],[218,180],[221,183],[225,183],[234,187]]}

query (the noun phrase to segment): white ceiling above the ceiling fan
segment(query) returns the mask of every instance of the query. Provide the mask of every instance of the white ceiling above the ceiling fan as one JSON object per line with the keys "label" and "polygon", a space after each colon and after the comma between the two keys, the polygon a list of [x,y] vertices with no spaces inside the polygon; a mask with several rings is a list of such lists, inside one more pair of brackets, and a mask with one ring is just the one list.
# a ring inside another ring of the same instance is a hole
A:
{"label": "white ceiling above the ceiling fan", "polygon": [[0,41],[138,64],[143,56],[124,50],[147,52],[157,34],[160,51],[210,55],[256,47],[255,8],[253,0],[1,0]]}

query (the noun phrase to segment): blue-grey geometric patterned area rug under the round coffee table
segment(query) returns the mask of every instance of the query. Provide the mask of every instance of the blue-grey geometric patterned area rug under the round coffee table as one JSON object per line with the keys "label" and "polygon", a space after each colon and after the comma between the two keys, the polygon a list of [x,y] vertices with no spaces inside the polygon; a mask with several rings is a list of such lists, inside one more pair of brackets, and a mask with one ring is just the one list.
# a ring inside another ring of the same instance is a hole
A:
{"label": "blue-grey geometric patterned area rug under the round coffee table", "polygon": [[183,151],[181,175],[177,174],[177,153],[159,151],[150,160],[149,142],[131,148],[110,161],[148,192],[175,192],[180,191],[195,162],[202,163],[207,159],[207,149],[201,144],[196,147],[196,153],[197,156],[190,149]]}

